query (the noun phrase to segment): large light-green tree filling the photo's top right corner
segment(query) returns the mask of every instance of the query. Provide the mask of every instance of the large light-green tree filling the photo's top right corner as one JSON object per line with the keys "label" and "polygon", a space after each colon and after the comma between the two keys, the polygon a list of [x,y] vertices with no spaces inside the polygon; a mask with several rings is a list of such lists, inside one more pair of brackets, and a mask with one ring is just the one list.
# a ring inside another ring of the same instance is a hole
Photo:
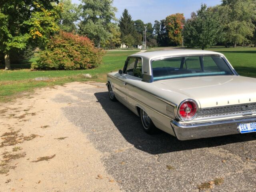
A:
{"label": "large light-green tree filling the photo's top right corner", "polygon": [[[243,43],[253,36],[255,26],[252,23],[256,15],[256,3],[254,0],[222,0],[224,14],[228,14],[225,23],[225,39],[227,42]],[[222,14],[223,16],[223,14]]]}

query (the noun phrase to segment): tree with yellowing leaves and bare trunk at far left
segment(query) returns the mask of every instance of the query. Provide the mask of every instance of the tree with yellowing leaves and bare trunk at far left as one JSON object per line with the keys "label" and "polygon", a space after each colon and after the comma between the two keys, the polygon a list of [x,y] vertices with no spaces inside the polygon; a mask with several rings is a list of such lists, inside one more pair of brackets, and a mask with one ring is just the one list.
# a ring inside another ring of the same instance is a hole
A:
{"label": "tree with yellowing leaves and bare trunk at far left", "polygon": [[61,6],[58,0],[0,1],[0,52],[5,68],[10,69],[10,52],[22,50],[27,44],[43,46],[58,31]]}

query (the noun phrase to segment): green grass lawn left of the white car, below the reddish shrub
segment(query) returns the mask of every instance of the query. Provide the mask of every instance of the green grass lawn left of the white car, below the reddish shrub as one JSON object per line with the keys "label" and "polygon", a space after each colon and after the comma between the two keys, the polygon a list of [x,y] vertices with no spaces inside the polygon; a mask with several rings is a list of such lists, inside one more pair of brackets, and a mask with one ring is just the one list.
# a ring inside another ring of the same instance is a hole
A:
{"label": "green grass lawn left of the white car, below the reddish shrub", "polygon": [[[111,51],[103,57],[103,64],[96,69],[73,70],[73,71],[31,71],[30,69],[0,70],[0,101],[11,99],[18,92],[32,90],[36,87],[61,85],[74,81],[98,81],[106,82],[106,74],[111,71],[122,69],[128,55],[138,51]],[[37,55],[36,55],[37,57]],[[34,62],[36,58],[30,61]],[[21,68],[29,64],[20,64]],[[17,65],[14,65],[17,68]],[[86,79],[82,74],[91,74],[93,78]],[[49,77],[49,81],[37,82],[36,77]]]}

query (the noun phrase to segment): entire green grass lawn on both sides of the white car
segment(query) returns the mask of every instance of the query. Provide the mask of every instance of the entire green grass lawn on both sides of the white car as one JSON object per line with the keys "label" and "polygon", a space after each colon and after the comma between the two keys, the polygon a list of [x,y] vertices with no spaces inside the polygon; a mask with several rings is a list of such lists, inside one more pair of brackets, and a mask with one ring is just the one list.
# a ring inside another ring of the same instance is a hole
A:
{"label": "entire green grass lawn on both sides of the white car", "polygon": [[[238,74],[256,78],[256,48],[210,48],[208,50],[223,53]],[[126,57],[134,51],[109,51],[103,57],[103,64],[96,69],[74,71],[31,71],[31,62],[36,62],[38,53],[30,59],[30,63],[16,64],[14,68],[27,68],[4,71],[0,70],[0,101],[11,99],[18,92],[33,90],[36,87],[61,85],[66,82],[88,81],[106,82],[106,74],[122,69]],[[86,79],[81,74],[91,74],[92,79]],[[36,77],[49,77],[50,80],[36,82]]]}

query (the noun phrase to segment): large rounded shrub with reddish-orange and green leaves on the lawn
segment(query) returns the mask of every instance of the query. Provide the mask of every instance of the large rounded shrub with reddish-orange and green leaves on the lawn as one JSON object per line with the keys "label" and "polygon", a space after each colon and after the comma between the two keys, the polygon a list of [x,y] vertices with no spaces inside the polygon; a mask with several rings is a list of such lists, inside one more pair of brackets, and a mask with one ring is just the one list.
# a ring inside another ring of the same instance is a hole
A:
{"label": "large rounded shrub with reddish-orange and green leaves on the lawn", "polygon": [[31,68],[44,70],[78,70],[98,67],[102,63],[104,51],[94,47],[84,36],[60,32],[40,52],[37,63]]}

